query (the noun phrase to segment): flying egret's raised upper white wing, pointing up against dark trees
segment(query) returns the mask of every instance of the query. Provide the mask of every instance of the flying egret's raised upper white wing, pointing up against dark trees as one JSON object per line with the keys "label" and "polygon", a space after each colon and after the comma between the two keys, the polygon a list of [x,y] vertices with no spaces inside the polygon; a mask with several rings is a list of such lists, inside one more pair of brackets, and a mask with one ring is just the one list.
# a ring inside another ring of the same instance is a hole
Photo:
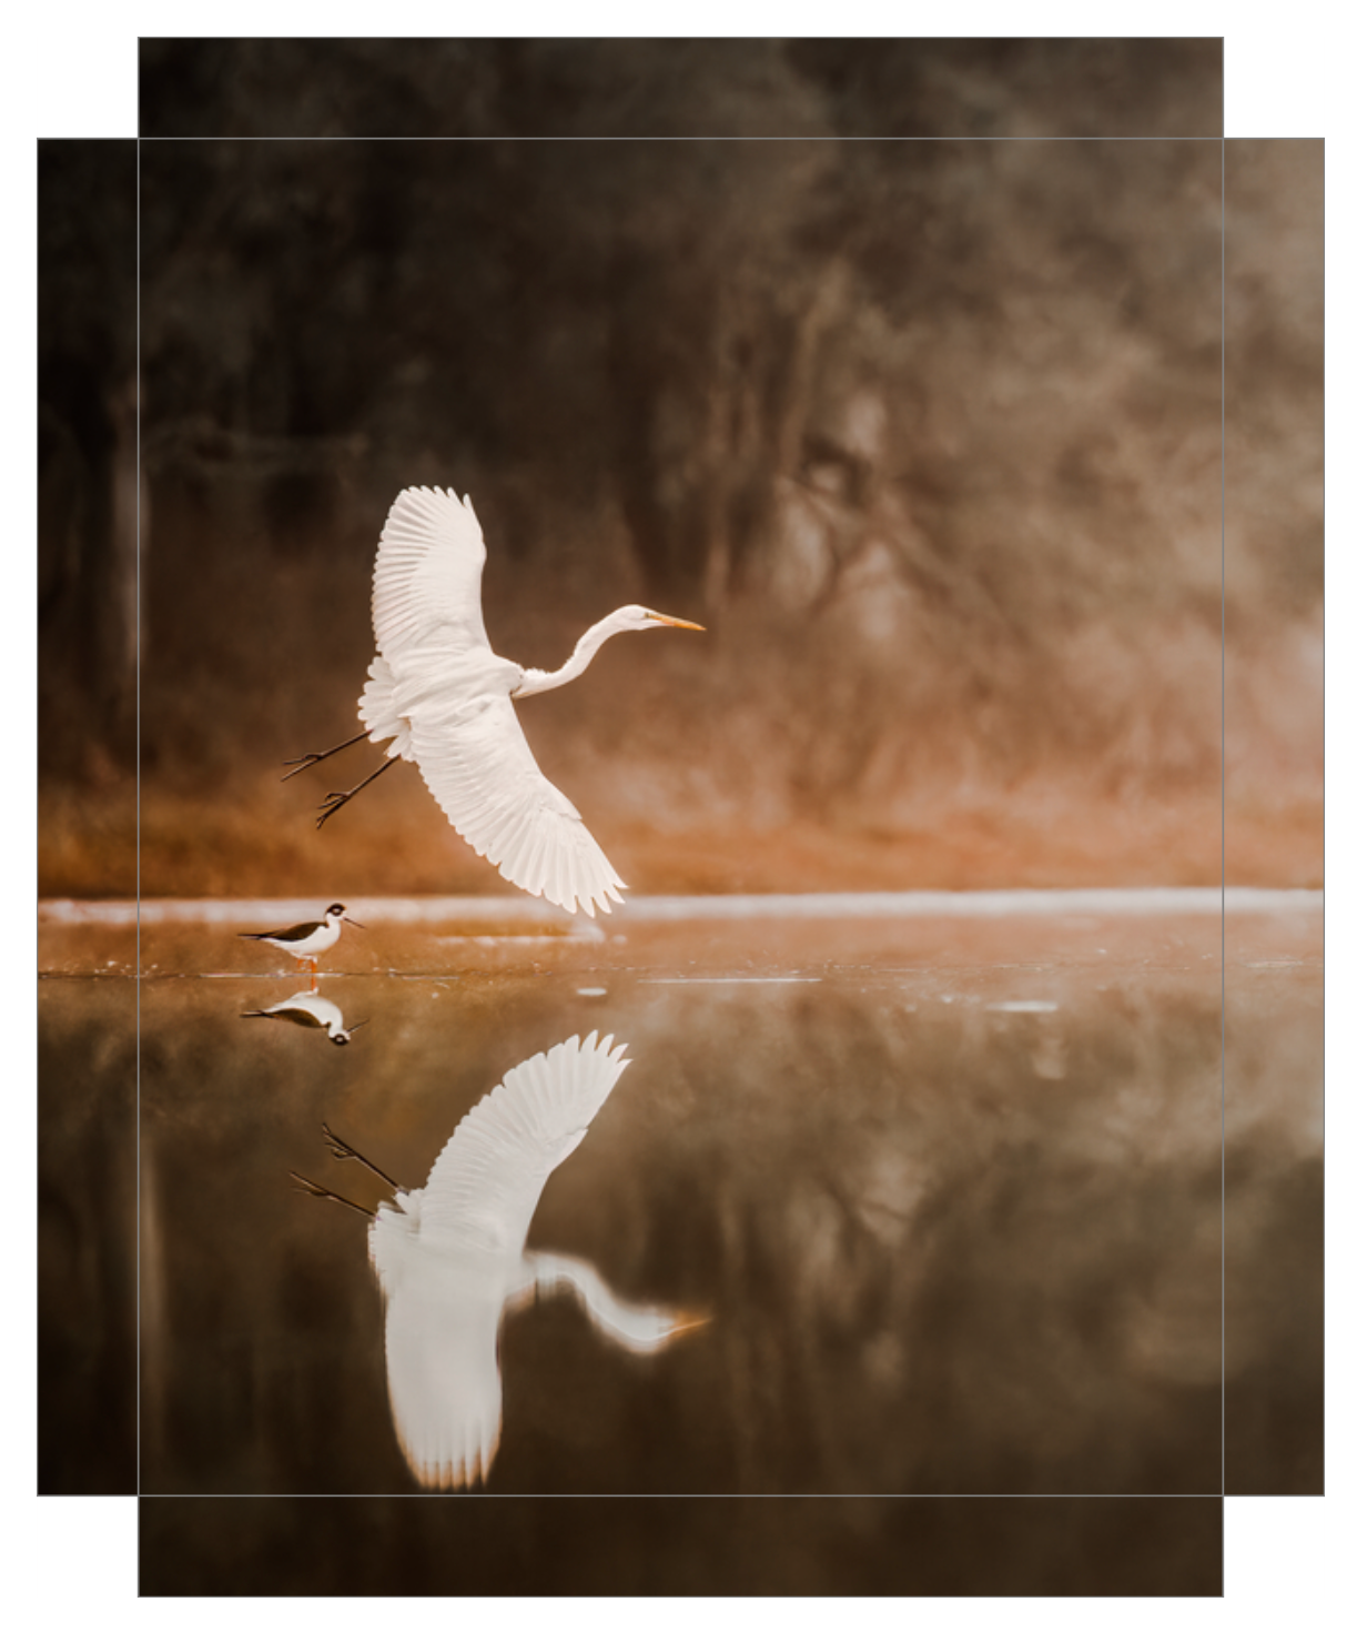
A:
{"label": "flying egret's raised upper white wing, pointing up against dark trees", "polygon": [[390,663],[418,648],[452,654],[488,646],[480,588],[484,535],[467,494],[405,488],[390,506],[375,555],[370,612]]}

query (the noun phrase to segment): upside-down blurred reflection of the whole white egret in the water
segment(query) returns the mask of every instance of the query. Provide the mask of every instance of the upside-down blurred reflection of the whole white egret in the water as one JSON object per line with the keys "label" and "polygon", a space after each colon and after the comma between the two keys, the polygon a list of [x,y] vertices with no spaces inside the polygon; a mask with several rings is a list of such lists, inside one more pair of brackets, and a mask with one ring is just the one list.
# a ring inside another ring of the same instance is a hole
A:
{"label": "upside-down blurred reflection of the whole white egret in the water", "polygon": [[[498,1337],[504,1310],[573,1291],[594,1325],[638,1353],[700,1320],[625,1304],[577,1258],[525,1252],[546,1178],[579,1146],[617,1079],[626,1044],[569,1038],[522,1061],[458,1124],[422,1190],[403,1190],[325,1126],[333,1155],[395,1190],[370,1224],[370,1263],[385,1294],[390,1407],[424,1485],[486,1479],[502,1420]],[[295,1173],[315,1196],[354,1201]],[[359,1211],[367,1211],[359,1208]]]}

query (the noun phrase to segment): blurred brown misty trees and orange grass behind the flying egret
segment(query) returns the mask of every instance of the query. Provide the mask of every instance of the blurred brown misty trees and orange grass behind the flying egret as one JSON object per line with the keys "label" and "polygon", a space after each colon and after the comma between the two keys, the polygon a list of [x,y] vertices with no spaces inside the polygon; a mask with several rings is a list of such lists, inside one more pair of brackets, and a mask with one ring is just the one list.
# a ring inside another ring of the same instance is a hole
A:
{"label": "blurred brown misty trees and orange grass behind the flying egret", "polygon": [[1217,41],[145,41],[142,131],[41,155],[46,893],[139,754],[147,893],[504,888],[277,780],[409,483],[506,656],[708,625],[520,712],[639,889],[1215,883],[1222,702],[1230,881],[1318,881],[1323,145]]}

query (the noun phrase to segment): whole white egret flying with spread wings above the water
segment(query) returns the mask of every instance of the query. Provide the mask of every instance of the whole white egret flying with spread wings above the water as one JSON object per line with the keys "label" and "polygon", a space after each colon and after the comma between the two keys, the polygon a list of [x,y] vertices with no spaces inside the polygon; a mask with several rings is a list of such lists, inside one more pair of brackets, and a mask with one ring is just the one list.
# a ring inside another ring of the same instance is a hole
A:
{"label": "whole white egret flying with spread wings above the water", "polygon": [[576,912],[612,911],[626,886],[579,811],[542,775],[514,698],[566,685],[605,640],[631,628],[701,628],[649,607],[618,607],[579,636],[553,672],[494,656],[480,609],[484,535],[453,490],[405,488],[393,501],[375,557],[370,610],[378,656],[369,669],[357,736],[308,765],[361,743],[388,743],[378,770],[344,793],[330,793],[318,826],[369,787],[396,759],[411,759],[450,824],[499,873],[533,896]]}

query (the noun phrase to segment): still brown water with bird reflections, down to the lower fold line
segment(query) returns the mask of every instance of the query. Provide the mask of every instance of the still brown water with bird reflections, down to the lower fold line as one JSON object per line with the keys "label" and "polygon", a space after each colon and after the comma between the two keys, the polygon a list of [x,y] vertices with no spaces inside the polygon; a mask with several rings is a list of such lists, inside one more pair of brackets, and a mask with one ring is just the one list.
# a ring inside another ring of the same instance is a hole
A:
{"label": "still brown water with bird reflections, down to the lower fold line", "polygon": [[352,906],[316,992],[148,916],[137,1169],[132,932],[44,929],[49,1488],[135,1222],[145,1493],[1320,1488],[1313,901]]}

